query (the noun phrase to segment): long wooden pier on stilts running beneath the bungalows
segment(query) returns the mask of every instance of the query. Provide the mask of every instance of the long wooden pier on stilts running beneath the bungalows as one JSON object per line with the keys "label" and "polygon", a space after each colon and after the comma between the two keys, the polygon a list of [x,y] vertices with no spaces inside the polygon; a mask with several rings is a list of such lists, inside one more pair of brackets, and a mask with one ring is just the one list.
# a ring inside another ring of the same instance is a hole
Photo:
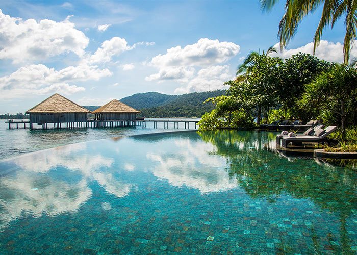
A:
{"label": "long wooden pier on stilts running beneath the bungalows", "polygon": [[[152,128],[158,129],[158,123],[164,124],[164,129],[169,129],[169,123],[173,123],[173,127],[171,125],[170,128],[179,129],[180,123],[184,123],[185,129],[190,129],[190,123],[195,126],[197,129],[198,121],[197,120],[145,120],[145,119],[137,119],[137,120],[94,120],[88,119],[87,121],[81,122],[60,122],[60,123],[37,123],[37,125],[41,125],[41,128],[46,130],[48,129],[48,124],[53,125],[53,129],[87,129],[87,128],[113,128],[113,127],[136,127],[141,126],[143,129],[146,129],[146,124],[152,122]],[[9,119],[5,121],[5,123],[9,124],[9,129],[14,129],[16,125],[16,129],[23,127],[26,129],[26,124],[28,127],[32,129],[32,125],[34,123],[30,123],[30,121],[14,121]]]}

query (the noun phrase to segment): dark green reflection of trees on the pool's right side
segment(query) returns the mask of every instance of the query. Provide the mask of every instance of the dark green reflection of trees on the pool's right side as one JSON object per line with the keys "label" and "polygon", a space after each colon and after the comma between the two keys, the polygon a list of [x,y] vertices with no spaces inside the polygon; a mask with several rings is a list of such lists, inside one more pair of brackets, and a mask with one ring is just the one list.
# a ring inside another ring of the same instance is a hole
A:
{"label": "dark green reflection of trees on the pool's right side", "polygon": [[[213,152],[227,157],[228,173],[236,176],[251,197],[288,193],[309,198],[322,208],[335,212],[341,221],[341,242],[348,246],[346,220],[356,210],[356,173],[349,168],[317,164],[312,159],[289,160],[262,149],[275,136],[270,132],[200,132],[206,142],[216,146]],[[270,135],[271,136],[271,135]]]}

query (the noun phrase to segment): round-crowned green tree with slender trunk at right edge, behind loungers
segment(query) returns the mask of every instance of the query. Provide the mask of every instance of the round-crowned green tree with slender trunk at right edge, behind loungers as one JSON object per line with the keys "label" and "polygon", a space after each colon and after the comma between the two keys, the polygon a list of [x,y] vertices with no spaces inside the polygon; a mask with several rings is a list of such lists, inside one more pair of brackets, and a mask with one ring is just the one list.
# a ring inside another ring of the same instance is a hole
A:
{"label": "round-crowned green tree with slender trunk at right edge, behind loungers", "polygon": [[357,70],[352,66],[335,64],[320,74],[312,83],[305,85],[300,106],[332,111],[341,119],[342,137],[345,135],[346,118],[357,111]]}

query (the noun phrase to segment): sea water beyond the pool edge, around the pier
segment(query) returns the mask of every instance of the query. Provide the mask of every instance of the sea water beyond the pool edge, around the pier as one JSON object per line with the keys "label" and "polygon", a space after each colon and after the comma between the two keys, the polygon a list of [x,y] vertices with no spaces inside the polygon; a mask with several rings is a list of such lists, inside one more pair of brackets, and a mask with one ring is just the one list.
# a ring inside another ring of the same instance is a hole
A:
{"label": "sea water beyond the pool edge, around the pier", "polygon": [[[185,118],[147,118],[146,120],[183,120]],[[200,118],[190,118],[189,120],[200,120]],[[158,123],[158,128],[154,129],[152,122],[146,123],[146,129],[137,127],[117,127],[113,129],[74,129],[74,130],[29,130],[11,129],[5,119],[0,120],[0,160],[12,158],[28,152],[53,148],[61,145],[99,140],[112,137],[124,137],[130,135],[150,134],[158,132],[172,132],[184,130],[184,123],[180,123],[179,129],[173,128],[173,123],[169,123],[169,129],[164,129],[164,124]],[[22,125],[20,125],[22,126]],[[28,126],[28,125],[27,125]],[[194,124],[190,125],[194,129]]]}

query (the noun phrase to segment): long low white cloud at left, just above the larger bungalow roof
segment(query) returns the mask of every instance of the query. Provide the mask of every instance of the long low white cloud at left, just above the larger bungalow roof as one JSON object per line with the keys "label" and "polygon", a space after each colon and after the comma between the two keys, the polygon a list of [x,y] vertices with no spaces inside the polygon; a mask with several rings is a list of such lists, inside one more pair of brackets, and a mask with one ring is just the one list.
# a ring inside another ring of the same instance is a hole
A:
{"label": "long low white cloud at left, just above the larger bungalow roof", "polygon": [[89,65],[69,66],[59,71],[42,64],[23,66],[10,75],[0,77],[0,98],[22,97],[29,93],[73,94],[85,88],[69,85],[68,82],[99,80],[110,75],[112,73],[108,69]]}

